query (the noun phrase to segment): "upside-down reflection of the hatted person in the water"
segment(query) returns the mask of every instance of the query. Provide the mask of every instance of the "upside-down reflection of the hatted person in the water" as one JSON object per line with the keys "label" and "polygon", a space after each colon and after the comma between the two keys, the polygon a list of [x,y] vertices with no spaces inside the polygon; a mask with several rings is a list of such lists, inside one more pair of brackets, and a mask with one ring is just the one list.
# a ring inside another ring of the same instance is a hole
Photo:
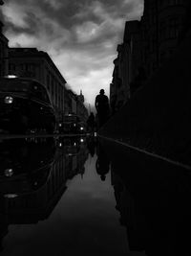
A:
{"label": "upside-down reflection of the hatted person in the water", "polygon": [[104,181],[110,171],[110,161],[100,143],[97,144],[96,155],[96,173],[100,175],[101,180]]}

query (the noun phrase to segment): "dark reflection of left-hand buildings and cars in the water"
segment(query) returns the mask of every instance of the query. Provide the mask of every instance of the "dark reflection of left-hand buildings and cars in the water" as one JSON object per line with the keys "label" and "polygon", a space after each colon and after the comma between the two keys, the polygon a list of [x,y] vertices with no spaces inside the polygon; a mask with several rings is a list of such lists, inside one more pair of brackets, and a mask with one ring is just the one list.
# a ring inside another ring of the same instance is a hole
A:
{"label": "dark reflection of left-hand buildings and cars in the water", "polygon": [[84,143],[82,138],[0,141],[1,240],[9,224],[37,223],[50,216],[67,180],[84,174]]}

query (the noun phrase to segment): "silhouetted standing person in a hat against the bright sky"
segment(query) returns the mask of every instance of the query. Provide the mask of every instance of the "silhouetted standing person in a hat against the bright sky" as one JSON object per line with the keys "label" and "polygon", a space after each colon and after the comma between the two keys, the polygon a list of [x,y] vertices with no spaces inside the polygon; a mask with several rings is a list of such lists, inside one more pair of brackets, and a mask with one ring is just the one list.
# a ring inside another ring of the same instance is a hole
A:
{"label": "silhouetted standing person in a hat against the bright sky", "polygon": [[102,127],[109,118],[110,107],[109,100],[105,94],[105,91],[101,89],[96,96],[95,106],[98,118],[98,128]]}

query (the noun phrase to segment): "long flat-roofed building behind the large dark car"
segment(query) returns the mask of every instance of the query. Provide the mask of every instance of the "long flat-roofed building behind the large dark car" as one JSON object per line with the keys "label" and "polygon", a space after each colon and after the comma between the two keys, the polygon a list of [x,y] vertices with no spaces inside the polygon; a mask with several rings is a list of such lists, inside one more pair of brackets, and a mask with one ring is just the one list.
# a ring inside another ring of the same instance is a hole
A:
{"label": "long flat-roofed building behind the large dark car", "polygon": [[64,113],[66,81],[52,58],[36,48],[10,48],[9,59],[10,74],[35,79],[47,87],[57,114],[61,118]]}

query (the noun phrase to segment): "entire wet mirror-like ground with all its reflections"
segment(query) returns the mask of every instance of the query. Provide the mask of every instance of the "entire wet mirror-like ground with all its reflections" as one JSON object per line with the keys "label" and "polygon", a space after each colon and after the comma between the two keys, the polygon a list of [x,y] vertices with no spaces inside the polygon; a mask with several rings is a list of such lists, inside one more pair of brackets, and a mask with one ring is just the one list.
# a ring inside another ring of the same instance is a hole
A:
{"label": "entire wet mirror-like ground with all its reflections", "polygon": [[191,255],[191,175],[96,137],[0,140],[0,255]]}

